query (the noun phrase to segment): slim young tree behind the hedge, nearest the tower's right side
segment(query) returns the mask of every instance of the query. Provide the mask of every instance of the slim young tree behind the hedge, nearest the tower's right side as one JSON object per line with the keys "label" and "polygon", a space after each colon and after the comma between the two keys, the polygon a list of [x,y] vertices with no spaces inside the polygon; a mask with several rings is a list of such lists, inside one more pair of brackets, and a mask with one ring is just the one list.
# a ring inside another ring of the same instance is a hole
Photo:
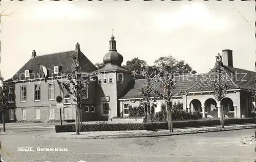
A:
{"label": "slim young tree behind the hedge, nearest the tower's right side", "polygon": [[152,97],[152,94],[154,92],[154,82],[152,81],[152,75],[148,71],[148,66],[145,67],[145,70],[143,70],[142,76],[145,78],[144,85],[138,89],[139,94],[142,95],[144,104],[146,104],[147,107],[147,123],[151,123],[151,104],[150,104],[150,98]]}

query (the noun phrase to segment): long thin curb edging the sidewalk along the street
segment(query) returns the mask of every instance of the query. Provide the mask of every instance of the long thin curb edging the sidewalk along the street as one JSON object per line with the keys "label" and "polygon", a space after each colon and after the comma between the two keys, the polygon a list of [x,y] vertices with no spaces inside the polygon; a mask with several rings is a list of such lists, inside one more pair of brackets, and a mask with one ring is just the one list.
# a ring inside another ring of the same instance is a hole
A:
{"label": "long thin curb edging the sidewalk along the street", "polygon": [[111,136],[111,137],[50,137],[50,138],[57,138],[57,139],[116,139],[116,138],[143,138],[143,137],[158,137],[158,136],[173,136],[173,135],[185,135],[185,134],[199,134],[199,133],[209,133],[209,132],[220,132],[220,131],[232,131],[232,130],[243,130],[243,129],[255,129],[254,127],[247,127],[247,128],[236,128],[236,129],[226,129],[226,130],[206,130],[206,131],[197,131],[197,132],[184,132],[184,133],[174,133],[174,134],[157,134],[157,135],[133,135],[133,136]]}

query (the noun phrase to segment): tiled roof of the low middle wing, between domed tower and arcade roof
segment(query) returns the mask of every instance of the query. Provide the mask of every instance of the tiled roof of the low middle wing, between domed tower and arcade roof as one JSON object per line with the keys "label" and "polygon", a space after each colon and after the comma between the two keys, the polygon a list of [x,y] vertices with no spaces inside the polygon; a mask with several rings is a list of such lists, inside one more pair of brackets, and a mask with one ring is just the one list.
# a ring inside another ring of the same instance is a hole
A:
{"label": "tiled roof of the low middle wing, between domed tower and arcade roof", "polygon": [[[188,75],[180,75],[175,76],[176,85],[173,91],[173,95],[178,95],[179,92],[184,91],[185,89],[193,86],[196,82],[198,82],[202,78],[202,74],[188,74]],[[152,79],[154,82],[154,79]],[[120,99],[130,99],[130,98],[141,98],[139,95],[139,89],[145,84],[145,79],[136,79],[132,84],[130,84],[127,88],[127,93],[123,95]],[[159,92],[163,92],[163,87],[159,85],[159,83],[155,84],[155,89]],[[154,97],[155,94],[152,94]]]}

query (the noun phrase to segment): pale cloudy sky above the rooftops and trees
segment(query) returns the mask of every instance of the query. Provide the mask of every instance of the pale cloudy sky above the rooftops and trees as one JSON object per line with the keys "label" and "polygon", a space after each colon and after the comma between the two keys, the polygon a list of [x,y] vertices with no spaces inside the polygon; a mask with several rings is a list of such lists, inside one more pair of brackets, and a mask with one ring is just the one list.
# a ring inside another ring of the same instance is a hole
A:
{"label": "pale cloudy sky above the rooftops and trees", "polygon": [[114,29],[117,52],[153,65],[161,56],[184,60],[198,73],[233,50],[233,66],[254,71],[255,2],[2,1],[1,74],[11,78],[36,51],[75,49],[102,62]]}

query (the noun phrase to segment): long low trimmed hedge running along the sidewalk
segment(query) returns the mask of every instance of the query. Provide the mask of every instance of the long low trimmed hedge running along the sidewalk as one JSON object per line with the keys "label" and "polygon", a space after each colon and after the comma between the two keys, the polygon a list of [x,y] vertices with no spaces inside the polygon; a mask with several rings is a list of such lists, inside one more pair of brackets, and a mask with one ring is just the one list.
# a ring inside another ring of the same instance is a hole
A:
{"label": "long low trimmed hedge running along the sidewalk", "polygon": [[[224,124],[254,124],[255,118],[225,119]],[[174,128],[219,126],[220,120],[193,120],[193,121],[174,121]],[[81,124],[80,131],[120,131],[120,130],[156,130],[168,129],[167,122],[159,123],[120,123],[120,124]],[[55,125],[55,131],[75,132],[75,124]]]}

